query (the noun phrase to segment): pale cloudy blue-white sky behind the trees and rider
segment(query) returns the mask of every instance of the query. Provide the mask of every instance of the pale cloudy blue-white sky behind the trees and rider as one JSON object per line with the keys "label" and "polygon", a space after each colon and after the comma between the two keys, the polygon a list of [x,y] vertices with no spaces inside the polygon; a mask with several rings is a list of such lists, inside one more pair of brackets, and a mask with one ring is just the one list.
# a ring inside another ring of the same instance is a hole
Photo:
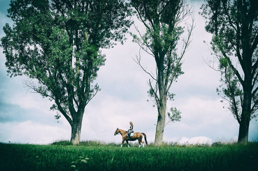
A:
{"label": "pale cloudy blue-white sky behind the trees and rider", "polygon": [[[7,18],[9,0],[0,0],[0,37],[5,33],[5,23],[12,24]],[[213,59],[208,46],[212,35],[204,29],[205,20],[198,14],[204,1],[192,1],[196,27],[192,42],[184,56],[182,71],[170,92],[174,101],[167,102],[167,108],[176,107],[181,111],[181,121],[166,125],[163,141],[180,143],[212,143],[216,141],[236,141],[239,124],[227,104],[220,102],[216,88],[221,84],[220,72],[209,68],[205,60]],[[141,23],[133,17],[135,25]],[[134,27],[130,32],[136,33]],[[128,130],[129,122],[134,132],[142,132],[148,142],[154,142],[157,124],[157,108],[152,107],[146,74],[133,60],[139,54],[139,46],[126,34],[127,41],[112,49],[103,49],[106,62],[100,67],[97,82],[101,88],[88,103],[83,116],[81,141],[98,140],[103,142],[121,142],[120,135],[114,136],[117,129]],[[180,48],[179,43],[179,48]],[[142,53],[142,64],[151,71],[155,60]],[[7,76],[5,56],[0,48],[0,142],[49,144],[58,140],[69,140],[71,127],[61,116],[56,120],[55,111],[50,111],[52,102],[39,94],[23,87],[25,76]],[[223,108],[225,106],[225,108]],[[251,120],[249,141],[258,138],[258,122]]]}

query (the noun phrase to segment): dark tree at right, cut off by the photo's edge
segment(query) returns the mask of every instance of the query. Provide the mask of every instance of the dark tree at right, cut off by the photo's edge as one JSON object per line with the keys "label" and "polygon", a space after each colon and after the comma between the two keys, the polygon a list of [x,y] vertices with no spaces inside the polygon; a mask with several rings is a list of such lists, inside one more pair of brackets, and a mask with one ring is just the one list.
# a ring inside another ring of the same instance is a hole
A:
{"label": "dark tree at right, cut off by the photo's edge", "polygon": [[238,142],[247,142],[249,123],[258,109],[258,1],[206,2],[201,15],[207,20],[206,31],[213,34],[211,50],[222,75],[217,92],[239,123]]}

